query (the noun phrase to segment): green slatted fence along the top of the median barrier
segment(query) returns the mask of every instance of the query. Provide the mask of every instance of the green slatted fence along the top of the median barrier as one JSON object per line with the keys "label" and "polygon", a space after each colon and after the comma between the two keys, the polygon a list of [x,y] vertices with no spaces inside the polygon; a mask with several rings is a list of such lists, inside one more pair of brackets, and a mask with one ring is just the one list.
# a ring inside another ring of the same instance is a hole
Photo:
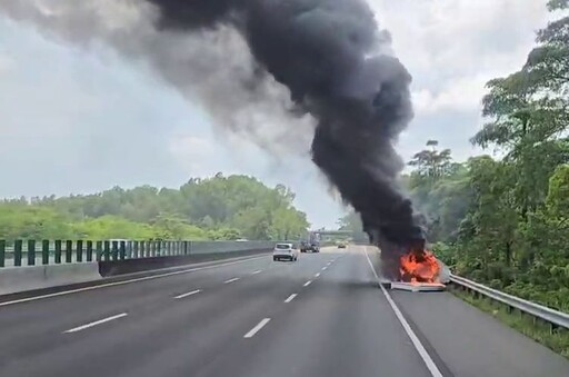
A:
{"label": "green slatted fence along the top of the median barrier", "polygon": [[272,248],[276,241],[0,240],[0,268],[189,256]]}

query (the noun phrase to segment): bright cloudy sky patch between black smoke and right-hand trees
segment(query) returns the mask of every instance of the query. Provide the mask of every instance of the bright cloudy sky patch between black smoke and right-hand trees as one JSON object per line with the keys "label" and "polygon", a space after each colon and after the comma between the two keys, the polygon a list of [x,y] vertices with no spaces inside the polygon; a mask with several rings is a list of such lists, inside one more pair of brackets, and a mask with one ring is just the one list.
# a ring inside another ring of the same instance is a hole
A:
{"label": "bright cloudy sky patch between black smoke and right-hand trees", "polygon": [[519,70],[536,30],[551,19],[546,1],[369,0],[393,50],[413,76],[416,118],[399,143],[412,156],[438,139],[461,159],[481,125],[481,100],[490,79]]}

